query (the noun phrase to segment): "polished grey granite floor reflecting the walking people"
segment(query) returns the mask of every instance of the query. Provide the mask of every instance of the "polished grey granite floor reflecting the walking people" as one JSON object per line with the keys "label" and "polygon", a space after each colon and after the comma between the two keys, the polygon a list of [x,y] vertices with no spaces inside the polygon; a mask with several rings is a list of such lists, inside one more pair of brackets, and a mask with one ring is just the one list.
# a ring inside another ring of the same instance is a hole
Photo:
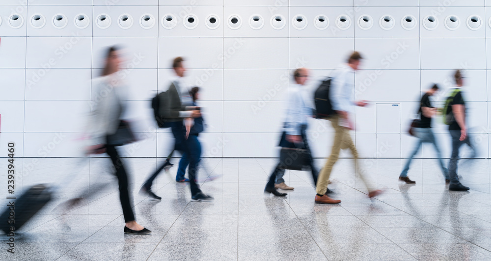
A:
{"label": "polished grey granite floor reflecting the walking people", "polygon": [[[365,159],[363,168],[384,190],[372,200],[352,160],[340,159],[329,186],[339,205],[314,204],[310,174],[300,171],[285,174],[295,187],[287,197],[265,196],[276,159],[262,158],[204,159],[200,184],[212,203],[191,202],[189,185],[174,181],[177,166],[157,179],[163,199],[150,200],[137,190],[163,159],[126,159],[136,220],[153,232],[145,236],[123,234],[109,159],[33,160],[17,159],[24,174],[16,177],[16,193],[36,183],[65,184],[18,231],[14,255],[0,237],[0,260],[491,260],[488,159],[462,162],[469,192],[448,191],[434,159],[413,161],[409,177],[416,185],[397,181],[403,160]],[[316,159],[319,168],[323,163]],[[6,175],[0,179],[6,187]],[[80,207],[60,205],[86,187],[90,196]]]}

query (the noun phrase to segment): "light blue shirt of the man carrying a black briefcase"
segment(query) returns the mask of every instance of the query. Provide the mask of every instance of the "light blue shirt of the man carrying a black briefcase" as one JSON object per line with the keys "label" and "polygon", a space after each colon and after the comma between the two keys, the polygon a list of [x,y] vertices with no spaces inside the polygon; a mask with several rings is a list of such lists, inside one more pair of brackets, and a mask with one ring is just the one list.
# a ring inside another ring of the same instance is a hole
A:
{"label": "light blue shirt of the man carrying a black briefcase", "polygon": [[312,115],[312,108],[303,100],[304,88],[306,87],[300,84],[290,86],[285,118],[285,131],[288,135],[300,135],[301,125],[307,124],[307,117]]}

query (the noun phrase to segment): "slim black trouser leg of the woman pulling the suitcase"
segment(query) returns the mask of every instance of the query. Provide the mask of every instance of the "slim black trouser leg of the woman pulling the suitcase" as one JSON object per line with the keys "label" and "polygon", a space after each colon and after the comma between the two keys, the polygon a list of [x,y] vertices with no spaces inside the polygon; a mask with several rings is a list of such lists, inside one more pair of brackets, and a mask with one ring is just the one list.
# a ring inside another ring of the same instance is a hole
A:
{"label": "slim black trouser leg of the woman pulling the suitcase", "polygon": [[128,192],[128,175],[126,174],[123,161],[121,160],[121,157],[119,157],[116,147],[113,145],[107,145],[106,152],[109,154],[109,157],[111,157],[112,164],[116,169],[115,175],[118,178],[119,200],[121,201],[121,207],[123,208],[124,221],[135,221],[135,214],[131,208],[132,200],[130,198],[130,193]]}

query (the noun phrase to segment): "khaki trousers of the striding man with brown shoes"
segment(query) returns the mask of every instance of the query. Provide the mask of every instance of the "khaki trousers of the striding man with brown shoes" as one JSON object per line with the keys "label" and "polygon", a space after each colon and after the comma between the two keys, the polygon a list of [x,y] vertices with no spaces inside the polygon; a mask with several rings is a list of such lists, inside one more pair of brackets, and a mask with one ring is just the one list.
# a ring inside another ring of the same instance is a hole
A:
{"label": "khaki trousers of the striding man with brown shoes", "polygon": [[317,188],[316,193],[319,195],[326,194],[327,191],[327,183],[329,181],[329,176],[331,175],[332,166],[339,158],[339,152],[341,149],[350,149],[351,154],[353,154],[353,158],[355,160],[355,169],[357,176],[365,183],[367,189],[369,188],[369,184],[365,179],[364,175],[361,175],[359,172],[359,164],[358,164],[358,151],[356,151],[355,143],[353,143],[353,139],[350,135],[350,129],[339,126],[339,116],[333,115],[330,119],[332,128],[336,131],[334,135],[334,143],[332,144],[331,155],[327,158],[327,162],[324,165],[321,173],[319,174],[319,178],[317,179]]}

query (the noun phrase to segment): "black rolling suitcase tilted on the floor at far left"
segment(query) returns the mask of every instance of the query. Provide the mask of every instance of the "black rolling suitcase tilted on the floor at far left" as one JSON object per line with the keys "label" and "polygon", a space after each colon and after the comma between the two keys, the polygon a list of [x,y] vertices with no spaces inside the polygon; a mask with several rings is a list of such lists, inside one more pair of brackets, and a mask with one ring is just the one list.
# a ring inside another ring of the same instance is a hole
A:
{"label": "black rolling suitcase tilted on the floor at far left", "polygon": [[[10,203],[14,203],[13,210],[10,207],[0,215],[0,220],[4,222],[0,223],[0,229],[5,234],[10,233],[10,227],[15,227],[15,230],[19,230],[26,222],[34,216],[39,210],[41,210],[52,197],[53,191],[51,187],[45,184],[37,184],[29,188],[26,193],[22,194],[17,199],[12,199]],[[14,216],[11,216],[13,211]],[[13,220],[11,224],[7,220]]]}

